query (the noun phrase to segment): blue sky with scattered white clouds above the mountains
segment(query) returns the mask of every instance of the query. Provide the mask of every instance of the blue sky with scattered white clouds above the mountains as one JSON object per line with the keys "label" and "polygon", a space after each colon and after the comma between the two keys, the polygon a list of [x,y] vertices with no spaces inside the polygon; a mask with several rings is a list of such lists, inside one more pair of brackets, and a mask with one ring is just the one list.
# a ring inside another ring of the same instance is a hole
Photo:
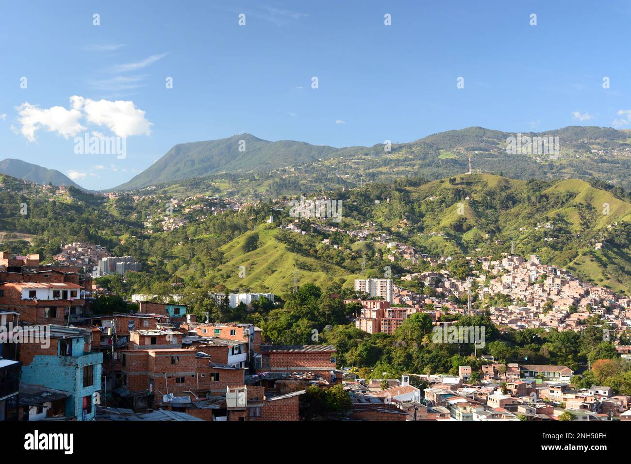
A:
{"label": "blue sky with scattered white clouds above the mountains", "polygon": [[[0,1],[0,159],[102,189],[241,132],[349,146],[631,128],[630,20],[628,1]],[[126,136],[126,157],[74,153],[86,132]]]}

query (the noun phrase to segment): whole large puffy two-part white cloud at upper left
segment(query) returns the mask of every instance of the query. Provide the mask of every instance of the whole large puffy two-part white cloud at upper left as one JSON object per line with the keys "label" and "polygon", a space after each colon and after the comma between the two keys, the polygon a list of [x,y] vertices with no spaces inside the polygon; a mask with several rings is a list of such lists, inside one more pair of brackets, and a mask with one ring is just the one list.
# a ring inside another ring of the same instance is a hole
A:
{"label": "whole large puffy two-part white cloud at upper left", "polygon": [[[28,102],[21,104],[16,108],[21,124],[20,133],[31,142],[35,141],[38,129],[56,132],[67,139],[86,130],[80,122],[85,117],[86,122],[106,127],[119,137],[151,134],[153,124],[144,117],[144,111],[137,108],[131,100],[96,101],[73,95],[70,97],[70,104],[71,109],[61,106],[41,109]],[[12,126],[11,129],[15,128]],[[93,131],[93,134],[104,137],[97,131]]]}

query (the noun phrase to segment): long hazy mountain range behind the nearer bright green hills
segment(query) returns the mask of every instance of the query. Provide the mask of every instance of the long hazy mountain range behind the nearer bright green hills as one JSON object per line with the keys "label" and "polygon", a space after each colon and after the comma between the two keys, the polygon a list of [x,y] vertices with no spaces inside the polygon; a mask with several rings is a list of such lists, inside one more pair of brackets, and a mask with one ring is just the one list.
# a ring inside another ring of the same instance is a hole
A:
{"label": "long hazy mountain range behind the nearer bright green hills", "polygon": [[[305,181],[313,184],[321,174],[327,179],[325,188],[340,186],[334,183],[339,179],[346,179],[351,185],[410,175],[442,179],[468,169],[469,155],[473,156],[477,172],[502,172],[515,179],[598,177],[631,189],[630,179],[622,175],[631,168],[628,131],[569,126],[523,135],[558,137],[560,157],[551,160],[547,155],[536,153],[511,155],[506,150],[507,139],[516,134],[480,127],[432,134],[388,147],[377,144],[334,148],[300,141],[266,141],[251,134],[240,134],[175,145],[151,167],[112,190],[139,189],[192,178],[211,179],[225,174],[241,177],[256,174],[259,179],[267,176],[266,180],[299,179],[304,187],[309,185]],[[241,186],[234,187],[239,190]],[[269,189],[258,191],[270,195],[278,193]]]}

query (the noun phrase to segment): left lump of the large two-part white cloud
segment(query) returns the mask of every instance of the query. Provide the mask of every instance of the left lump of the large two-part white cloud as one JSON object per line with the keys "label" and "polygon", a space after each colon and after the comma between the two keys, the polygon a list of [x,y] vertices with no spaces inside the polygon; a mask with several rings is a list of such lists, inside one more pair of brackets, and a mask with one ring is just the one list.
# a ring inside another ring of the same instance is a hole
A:
{"label": "left lump of the large two-part white cloud", "polygon": [[35,132],[38,129],[56,132],[66,139],[85,130],[79,122],[83,114],[76,109],[74,102],[73,109],[70,110],[61,106],[42,109],[28,102],[16,107],[16,110],[18,110],[18,121],[22,126],[20,133],[30,142],[35,141]]}

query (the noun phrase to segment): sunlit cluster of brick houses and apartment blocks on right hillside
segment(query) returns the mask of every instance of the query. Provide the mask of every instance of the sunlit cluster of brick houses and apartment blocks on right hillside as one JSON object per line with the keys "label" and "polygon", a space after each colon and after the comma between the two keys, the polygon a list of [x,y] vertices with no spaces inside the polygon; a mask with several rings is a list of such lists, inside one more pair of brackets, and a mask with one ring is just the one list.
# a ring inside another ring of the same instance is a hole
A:
{"label": "sunlit cluster of brick houses and apartment blocks on right hillside", "polygon": [[[447,258],[449,259],[449,258]],[[449,271],[411,273],[402,282],[421,282],[428,292],[415,293],[394,285],[391,279],[356,280],[355,290],[380,300],[362,300],[364,310],[356,319],[357,328],[369,333],[393,333],[411,314],[424,312],[438,321],[444,314],[476,314],[488,311],[493,323],[514,328],[554,328],[581,331],[587,319],[601,316],[608,333],[623,333],[631,328],[631,299],[610,289],[581,281],[566,270],[541,265],[537,256],[468,258],[469,265],[480,263],[481,271],[472,271],[466,280],[451,277]],[[502,306],[493,304],[471,307],[475,292],[480,302],[502,294],[510,300]],[[429,294],[426,295],[425,293]],[[469,305],[460,304],[464,300]],[[468,301],[469,300],[469,301]]]}

